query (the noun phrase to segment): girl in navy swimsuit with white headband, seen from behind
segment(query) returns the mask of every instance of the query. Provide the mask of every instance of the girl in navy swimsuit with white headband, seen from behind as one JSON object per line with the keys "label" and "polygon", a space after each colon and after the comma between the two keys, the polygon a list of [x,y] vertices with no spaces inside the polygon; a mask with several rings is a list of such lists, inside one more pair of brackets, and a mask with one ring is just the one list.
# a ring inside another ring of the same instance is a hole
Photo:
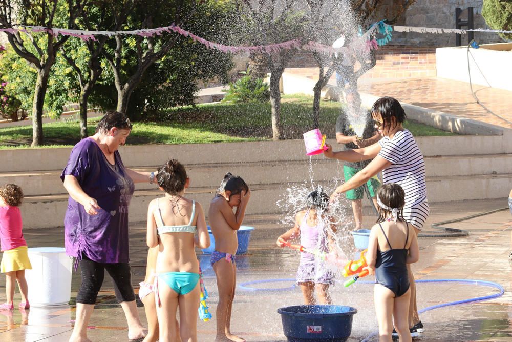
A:
{"label": "girl in navy swimsuit with white headband, seen from behind", "polygon": [[408,312],[411,290],[407,264],[418,261],[418,239],[402,216],[405,194],[396,183],[382,185],[377,196],[379,218],[372,227],[366,254],[375,275],[375,311],[379,341],[391,342],[393,325],[400,341],[411,341]]}

